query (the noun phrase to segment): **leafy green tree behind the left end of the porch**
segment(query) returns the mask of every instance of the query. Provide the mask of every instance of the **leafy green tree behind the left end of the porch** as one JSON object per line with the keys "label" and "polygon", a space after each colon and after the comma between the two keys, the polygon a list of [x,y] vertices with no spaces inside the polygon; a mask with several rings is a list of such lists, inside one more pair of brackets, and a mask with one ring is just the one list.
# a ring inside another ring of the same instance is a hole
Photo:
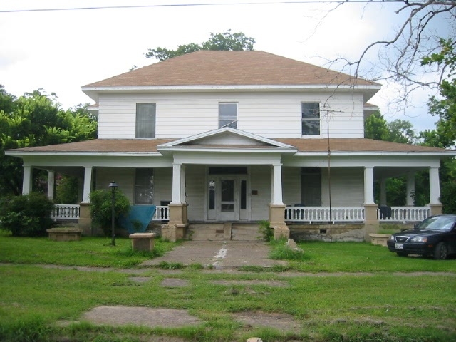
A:
{"label": "leafy green tree behind the left end of the porch", "polygon": [[[62,110],[55,94],[43,90],[16,98],[0,86],[0,193],[20,195],[22,161],[5,155],[18,147],[43,146],[96,138],[97,123],[86,105]],[[34,172],[38,184],[41,172]]]}

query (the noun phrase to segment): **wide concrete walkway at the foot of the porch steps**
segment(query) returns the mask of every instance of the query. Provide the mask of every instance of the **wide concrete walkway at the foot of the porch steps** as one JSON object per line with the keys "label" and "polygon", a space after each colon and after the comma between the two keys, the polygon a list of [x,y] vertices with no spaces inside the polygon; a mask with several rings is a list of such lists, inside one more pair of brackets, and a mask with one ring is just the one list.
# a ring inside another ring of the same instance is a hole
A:
{"label": "wide concrete walkway at the foot of the porch steps", "polygon": [[147,260],[140,266],[153,266],[162,261],[185,266],[202,264],[216,269],[286,265],[286,261],[268,259],[270,248],[261,241],[185,241],[163,257]]}

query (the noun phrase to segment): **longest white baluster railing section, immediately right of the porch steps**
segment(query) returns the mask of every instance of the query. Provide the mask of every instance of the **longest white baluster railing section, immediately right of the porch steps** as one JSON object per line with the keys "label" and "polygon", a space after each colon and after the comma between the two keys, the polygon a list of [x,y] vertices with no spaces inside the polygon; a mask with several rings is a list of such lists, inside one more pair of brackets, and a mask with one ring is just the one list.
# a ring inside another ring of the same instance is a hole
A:
{"label": "longest white baluster railing section, immediately right of the porch steps", "polygon": [[285,221],[293,222],[363,222],[363,207],[286,207]]}

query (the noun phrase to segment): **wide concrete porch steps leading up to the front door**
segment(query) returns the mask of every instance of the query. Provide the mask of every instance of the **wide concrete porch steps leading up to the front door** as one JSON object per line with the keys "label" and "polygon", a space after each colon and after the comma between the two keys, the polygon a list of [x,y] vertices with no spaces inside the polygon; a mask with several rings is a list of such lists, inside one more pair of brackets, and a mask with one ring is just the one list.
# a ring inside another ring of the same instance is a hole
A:
{"label": "wide concrete porch steps leading up to the front door", "polygon": [[190,224],[186,239],[194,241],[252,241],[259,239],[258,224],[237,224],[232,222]]}

